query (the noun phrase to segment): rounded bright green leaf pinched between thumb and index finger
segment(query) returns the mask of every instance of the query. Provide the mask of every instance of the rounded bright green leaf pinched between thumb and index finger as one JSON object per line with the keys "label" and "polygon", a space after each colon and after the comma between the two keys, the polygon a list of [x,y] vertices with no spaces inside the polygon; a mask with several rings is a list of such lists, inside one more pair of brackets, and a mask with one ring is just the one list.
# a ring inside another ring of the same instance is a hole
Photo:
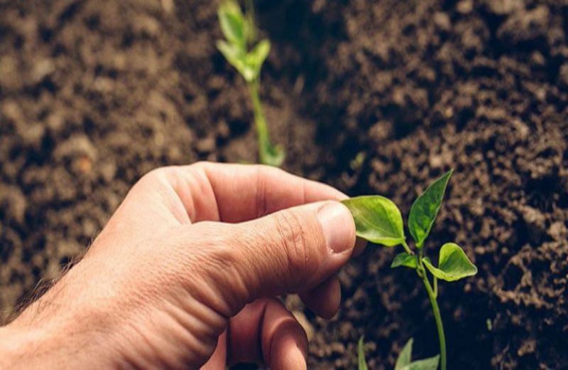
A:
{"label": "rounded bright green leaf pinched between thumb and index finger", "polygon": [[405,240],[403,217],[388,198],[365,195],[342,202],[353,214],[357,236],[383,246],[397,246]]}

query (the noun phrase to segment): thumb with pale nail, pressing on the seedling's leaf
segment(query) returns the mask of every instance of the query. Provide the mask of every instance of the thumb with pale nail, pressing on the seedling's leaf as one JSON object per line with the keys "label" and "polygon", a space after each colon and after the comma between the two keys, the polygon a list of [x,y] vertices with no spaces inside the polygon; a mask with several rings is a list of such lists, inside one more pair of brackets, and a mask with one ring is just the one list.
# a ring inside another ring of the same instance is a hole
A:
{"label": "thumb with pale nail, pressing on the seedling's leaf", "polygon": [[302,205],[230,226],[239,274],[232,281],[246,285],[246,302],[315,288],[349,260],[355,245],[353,217],[339,202]]}

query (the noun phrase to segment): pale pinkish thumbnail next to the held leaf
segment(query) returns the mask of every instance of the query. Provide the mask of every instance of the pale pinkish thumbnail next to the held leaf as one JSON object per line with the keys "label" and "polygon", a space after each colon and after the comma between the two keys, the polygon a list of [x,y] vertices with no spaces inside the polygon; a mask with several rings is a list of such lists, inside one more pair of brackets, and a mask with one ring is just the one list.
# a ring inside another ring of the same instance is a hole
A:
{"label": "pale pinkish thumbnail next to the held leaf", "polygon": [[342,253],[354,246],[355,225],[351,212],[339,202],[329,202],[317,210],[327,246],[335,253]]}

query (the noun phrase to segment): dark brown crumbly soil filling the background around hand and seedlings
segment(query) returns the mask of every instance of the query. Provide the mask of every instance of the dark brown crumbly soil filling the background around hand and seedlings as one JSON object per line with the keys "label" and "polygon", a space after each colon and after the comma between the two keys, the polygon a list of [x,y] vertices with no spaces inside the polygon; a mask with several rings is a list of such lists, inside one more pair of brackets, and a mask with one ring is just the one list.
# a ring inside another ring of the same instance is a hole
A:
{"label": "dark brown crumbly soil filling the background around hand and seedlings", "polygon": [[[0,313],[58,275],[158,165],[253,161],[246,87],[214,48],[211,1],[0,0]],[[442,285],[450,369],[564,369],[568,352],[568,3],[263,0],[263,99],[284,167],[403,213],[455,169],[427,248],[479,266]],[[351,161],[359,154],[361,166]],[[434,320],[395,251],[340,273],[306,311],[310,369],[372,369]],[[303,310],[297,298],[290,308]]]}

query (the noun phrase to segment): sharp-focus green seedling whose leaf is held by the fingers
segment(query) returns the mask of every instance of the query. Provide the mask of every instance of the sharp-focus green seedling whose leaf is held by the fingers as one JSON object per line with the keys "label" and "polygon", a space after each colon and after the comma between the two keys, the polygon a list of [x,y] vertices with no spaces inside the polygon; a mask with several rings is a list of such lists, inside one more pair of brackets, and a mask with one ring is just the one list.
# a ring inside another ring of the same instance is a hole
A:
{"label": "sharp-focus green seedling whose leaf is held by the fingers", "polygon": [[[439,359],[442,370],[446,370],[447,360],[444,326],[442,325],[442,316],[440,315],[437,303],[438,280],[457,281],[468,276],[474,276],[477,273],[476,266],[469,261],[461,247],[455,243],[442,245],[442,248],[439,250],[438,266],[434,266],[432,261],[425,256],[424,243],[436,220],[439,207],[442,205],[442,198],[444,197],[444,192],[446,192],[446,187],[450,176],[452,176],[452,172],[453,170],[449,170],[442,175],[441,178],[430,184],[425,192],[416,198],[412,207],[410,207],[408,230],[415,241],[414,248],[411,248],[406,242],[403,217],[400,214],[400,210],[398,210],[398,207],[388,198],[381,195],[370,195],[354,197],[343,201],[344,205],[346,205],[353,214],[357,236],[383,246],[403,246],[404,251],[395,256],[395,259],[391,263],[391,268],[403,266],[413,269],[424,284],[436,321],[439,339]],[[428,273],[432,275],[432,283],[430,283]],[[408,369],[437,368],[437,360],[434,367],[418,367],[418,365],[413,365],[418,362],[422,363],[421,361],[415,361],[413,364],[410,364],[412,342],[409,341],[409,343],[405,346],[405,348],[407,346],[410,348],[408,349]],[[427,362],[427,364],[433,364],[433,359],[435,358],[437,357],[422,361],[431,360]],[[407,369],[404,366],[396,367],[395,369]]]}

